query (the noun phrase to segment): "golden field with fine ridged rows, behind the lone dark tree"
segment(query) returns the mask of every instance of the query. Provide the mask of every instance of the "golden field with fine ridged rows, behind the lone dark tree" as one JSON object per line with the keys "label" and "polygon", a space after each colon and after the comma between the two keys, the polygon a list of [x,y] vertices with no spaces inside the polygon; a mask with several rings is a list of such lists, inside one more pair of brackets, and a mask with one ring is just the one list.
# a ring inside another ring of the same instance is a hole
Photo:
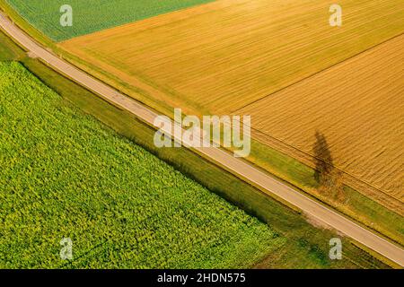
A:
{"label": "golden field with fine ridged rows, behind the lone dark tree", "polygon": [[260,132],[312,155],[317,132],[335,166],[380,190],[371,196],[402,213],[403,47],[404,35],[237,112],[250,114]]}

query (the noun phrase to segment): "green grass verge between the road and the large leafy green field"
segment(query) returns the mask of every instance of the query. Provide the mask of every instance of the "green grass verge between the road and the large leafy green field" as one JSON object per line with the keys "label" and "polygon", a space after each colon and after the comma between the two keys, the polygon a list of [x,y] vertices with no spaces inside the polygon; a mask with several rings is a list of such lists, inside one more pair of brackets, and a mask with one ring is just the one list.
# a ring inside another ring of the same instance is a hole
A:
{"label": "green grass verge between the road and the large leafy green field", "polygon": [[36,59],[25,57],[22,49],[16,47],[0,32],[0,47],[14,51],[9,60],[20,60],[30,71],[40,77],[43,83],[57,91],[66,104],[74,103],[88,114],[100,119],[120,135],[140,144],[162,160],[171,163],[177,170],[188,174],[204,186],[238,204],[248,213],[267,222],[279,237],[285,239],[268,253],[258,267],[272,268],[385,268],[381,261],[370,256],[348,239],[344,241],[344,259],[328,259],[329,239],[336,236],[333,231],[319,230],[303,219],[299,213],[263,195],[254,187],[244,183],[232,174],[224,172],[187,149],[156,149],[153,144],[154,129],[138,121],[124,110],[117,109],[101,100],[92,92],[60,76]]}

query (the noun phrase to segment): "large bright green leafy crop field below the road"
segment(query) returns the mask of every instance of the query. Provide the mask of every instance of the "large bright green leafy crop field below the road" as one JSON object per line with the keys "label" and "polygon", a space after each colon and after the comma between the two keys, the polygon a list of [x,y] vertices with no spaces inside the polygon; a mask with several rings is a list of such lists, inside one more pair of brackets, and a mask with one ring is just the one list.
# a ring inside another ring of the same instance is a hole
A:
{"label": "large bright green leafy crop field below the road", "polygon": [[0,64],[0,150],[0,268],[249,267],[285,244],[16,62]]}

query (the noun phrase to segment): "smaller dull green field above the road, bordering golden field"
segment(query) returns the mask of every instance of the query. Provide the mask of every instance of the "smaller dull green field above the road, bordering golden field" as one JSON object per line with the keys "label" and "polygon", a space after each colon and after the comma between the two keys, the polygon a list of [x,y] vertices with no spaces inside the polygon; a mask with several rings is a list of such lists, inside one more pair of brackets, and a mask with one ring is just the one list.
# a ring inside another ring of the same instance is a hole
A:
{"label": "smaller dull green field above the road, bordering golden field", "polygon": [[[136,22],[215,0],[6,0],[38,30],[56,41]],[[60,25],[60,7],[73,8],[73,26]],[[113,11],[113,13],[111,13]]]}

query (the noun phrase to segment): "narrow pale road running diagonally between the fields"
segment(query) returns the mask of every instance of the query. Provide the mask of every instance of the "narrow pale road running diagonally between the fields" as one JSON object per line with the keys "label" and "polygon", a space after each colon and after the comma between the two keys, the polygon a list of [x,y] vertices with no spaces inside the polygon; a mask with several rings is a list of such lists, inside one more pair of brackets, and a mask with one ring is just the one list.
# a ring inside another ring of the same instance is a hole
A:
{"label": "narrow pale road running diagonally between the fields", "polygon": [[[20,43],[22,47],[26,48],[43,61],[47,62],[61,74],[66,74],[75,82],[82,84],[84,87],[101,95],[107,100],[114,102],[123,109],[127,109],[136,117],[141,118],[145,122],[153,125],[154,118],[158,115],[144,105],[139,104],[136,100],[132,100],[127,96],[119,93],[110,86],[92,78],[90,75],[83,73],[74,65],[66,63],[64,60],[56,57],[47,49],[42,48],[31,37],[26,35],[22,30],[10,22],[4,14],[0,13],[0,27],[2,27],[16,42]],[[364,246],[373,249],[384,257],[389,258],[391,261],[404,266],[404,250],[391,242],[382,239],[380,236],[374,234],[369,230],[365,230],[355,222],[347,219],[346,217],[335,213],[328,207],[323,206],[311,198],[304,196],[299,191],[285,186],[276,178],[255,169],[250,164],[234,158],[232,154],[224,152],[220,149],[198,148],[201,152],[210,158],[211,161],[218,162],[221,166],[238,175],[240,178],[248,178],[250,182],[255,183],[257,186],[262,187],[269,196],[278,196],[290,204],[298,207],[320,222],[324,222],[330,227],[344,233],[348,237],[355,239],[362,243]]]}

